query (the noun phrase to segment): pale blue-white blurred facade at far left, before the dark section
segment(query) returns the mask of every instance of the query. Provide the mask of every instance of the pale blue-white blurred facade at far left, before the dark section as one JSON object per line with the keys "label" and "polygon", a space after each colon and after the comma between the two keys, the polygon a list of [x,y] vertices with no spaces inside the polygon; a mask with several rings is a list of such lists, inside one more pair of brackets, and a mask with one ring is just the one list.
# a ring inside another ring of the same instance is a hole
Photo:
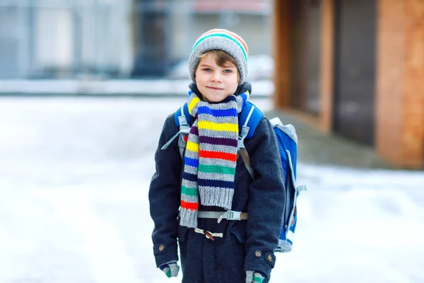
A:
{"label": "pale blue-white blurred facade at far left, before the dark section", "polygon": [[130,74],[130,0],[0,0],[0,77]]}

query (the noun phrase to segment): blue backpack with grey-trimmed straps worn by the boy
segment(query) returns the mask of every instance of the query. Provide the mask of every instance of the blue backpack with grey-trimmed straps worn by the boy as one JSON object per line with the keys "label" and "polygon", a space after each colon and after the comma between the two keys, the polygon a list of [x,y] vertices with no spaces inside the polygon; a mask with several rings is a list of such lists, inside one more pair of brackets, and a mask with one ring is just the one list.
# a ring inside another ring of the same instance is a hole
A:
{"label": "blue backpack with grey-trimmed straps worn by the boy", "polygon": [[[245,108],[240,113],[239,119],[239,141],[238,147],[240,150],[240,156],[245,163],[247,171],[254,179],[254,172],[250,166],[250,158],[247,150],[245,149],[245,139],[253,137],[254,131],[259,125],[259,122],[264,117],[264,113],[259,110],[253,103],[247,102]],[[184,149],[187,143],[187,135],[189,134],[190,127],[192,125],[192,117],[189,115],[189,108],[187,103],[182,105],[179,110],[174,114],[175,125],[179,127],[179,132],[170,141],[163,146],[166,147],[179,136],[179,153],[181,156],[184,155]],[[298,157],[298,136],[295,132],[293,125],[283,125],[281,120],[276,117],[270,120],[273,126],[274,133],[278,141],[278,147],[280,149],[281,166],[284,174],[284,185],[285,185],[285,213],[283,215],[283,229],[281,229],[280,237],[278,240],[278,246],[276,252],[288,253],[292,250],[293,236],[298,221],[298,212],[296,202],[298,200],[299,192],[306,190],[305,185],[296,185],[296,161]]]}

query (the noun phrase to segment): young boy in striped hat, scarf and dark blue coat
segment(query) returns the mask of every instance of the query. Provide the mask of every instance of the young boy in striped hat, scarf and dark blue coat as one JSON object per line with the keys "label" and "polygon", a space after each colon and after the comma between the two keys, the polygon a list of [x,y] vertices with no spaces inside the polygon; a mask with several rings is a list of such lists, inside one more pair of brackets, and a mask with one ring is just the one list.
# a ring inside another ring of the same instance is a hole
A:
{"label": "young boy in striped hat, scarf and dark blue coat", "polygon": [[177,277],[179,246],[182,282],[269,282],[275,265],[285,187],[266,117],[245,139],[254,180],[237,151],[238,118],[251,93],[247,54],[245,41],[228,30],[201,35],[189,57],[194,122],[184,158],[178,139],[161,150],[179,131],[173,115],[160,135],[149,190],[153,253],[160,270]]}

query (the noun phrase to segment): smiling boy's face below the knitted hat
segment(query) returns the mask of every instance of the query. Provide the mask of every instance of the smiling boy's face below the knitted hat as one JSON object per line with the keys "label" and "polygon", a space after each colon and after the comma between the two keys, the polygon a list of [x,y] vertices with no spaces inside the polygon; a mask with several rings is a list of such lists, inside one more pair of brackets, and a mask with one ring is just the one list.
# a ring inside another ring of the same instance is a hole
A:
{"label": "smiling boy's face below the knitted hat", "polygon": [[237,66],[230,62],[224,67],[218,66],[215,54],[207,53],[200,59],[195,76],[197,88],[208,102],[220,102],[237,90]]}

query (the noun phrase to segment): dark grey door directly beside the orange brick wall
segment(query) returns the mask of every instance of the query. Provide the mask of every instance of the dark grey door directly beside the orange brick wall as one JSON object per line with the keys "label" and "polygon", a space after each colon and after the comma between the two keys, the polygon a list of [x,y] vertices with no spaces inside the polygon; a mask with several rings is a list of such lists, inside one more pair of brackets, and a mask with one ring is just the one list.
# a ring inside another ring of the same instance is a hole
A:
{"label": "dark grey door directly beside the orange brick wall", "polygon": [[374,145],[376,0],[335,0],[334,131]]}

